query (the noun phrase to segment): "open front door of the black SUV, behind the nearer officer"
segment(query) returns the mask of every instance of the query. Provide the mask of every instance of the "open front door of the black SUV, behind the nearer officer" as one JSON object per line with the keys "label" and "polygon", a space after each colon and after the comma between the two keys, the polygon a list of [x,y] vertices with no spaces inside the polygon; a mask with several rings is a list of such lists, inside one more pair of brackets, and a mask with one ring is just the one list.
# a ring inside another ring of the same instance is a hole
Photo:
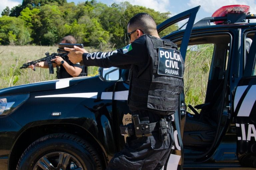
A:
{"label": "open front door of the black SUV, behind the nearer officer", "polygon": [[[188,19],[186,23],[186,30],[184,32],[182,43],[180,46],[180,53],[183,57],[183,60],[185,61],[186,58],[186,51],[187,46],[190,38],[190,34],[193,28],[193,24],[196,18],[196,14],[199,10],[200,6],[197,6],[195,8],[192,8],[190,10],[187,10],[185,12],[182,12],[180,14],[177,14],[163,23],[159,24],[157,26],[158,33],[164,30],[165,28],[176,24],[180,21]],[[165,36],[165,37],[168,37]],[[163,37],[163,39],[165,38]],[[184,98],[184,92],[180,95],[180,101],[179,101],[179,109],[174,114],[174,145],[173,149],[174,151],[169,155],[167,164],[164,166],[164,169],[166,170],[174,170],[174,169],[183,169],[183,144],[182,144],[182,135],[185,125],[185,118],[186,118],[186,108],[185,108],[185,98]]]}

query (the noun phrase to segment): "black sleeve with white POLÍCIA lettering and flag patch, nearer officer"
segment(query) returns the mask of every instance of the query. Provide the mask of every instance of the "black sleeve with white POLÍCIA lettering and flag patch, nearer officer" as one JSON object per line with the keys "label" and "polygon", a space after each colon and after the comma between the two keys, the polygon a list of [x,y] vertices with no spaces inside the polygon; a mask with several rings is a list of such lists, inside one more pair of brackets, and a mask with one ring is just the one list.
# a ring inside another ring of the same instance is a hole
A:
{"label": "black sleeve with white POL\u00cdCIA lettering and flag patch, nearer officer", "polygon": [[110,52],[84,53],[85,66],[99,66],[103,68],[119,67],[128,69],[131,65],[142,65],[147,60],[147,45],[141,36],[124,48]]}

